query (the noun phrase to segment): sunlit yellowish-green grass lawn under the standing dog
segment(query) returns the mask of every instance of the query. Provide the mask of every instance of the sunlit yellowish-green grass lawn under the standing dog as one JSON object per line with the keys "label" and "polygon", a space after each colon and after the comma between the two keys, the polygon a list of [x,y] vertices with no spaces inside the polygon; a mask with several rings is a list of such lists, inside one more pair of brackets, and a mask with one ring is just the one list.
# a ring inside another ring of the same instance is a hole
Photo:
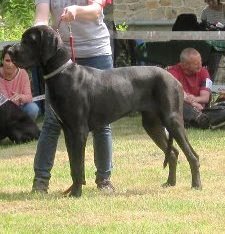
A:
{"label": "sunlit yellowish-green grass lawn under the standing dog", "polygon": [[177,185],[162,188],[168,168],[139,116],[112,125],[114,194],[97,191],[91,134],[81,198],[63,197],[71,184],[63,134],[48,195],[30,194],[36,143],[0,145],[0,233],[225,233],[224,130],[187,131],[200,155],[203,190],[191,189],[180,151]]}

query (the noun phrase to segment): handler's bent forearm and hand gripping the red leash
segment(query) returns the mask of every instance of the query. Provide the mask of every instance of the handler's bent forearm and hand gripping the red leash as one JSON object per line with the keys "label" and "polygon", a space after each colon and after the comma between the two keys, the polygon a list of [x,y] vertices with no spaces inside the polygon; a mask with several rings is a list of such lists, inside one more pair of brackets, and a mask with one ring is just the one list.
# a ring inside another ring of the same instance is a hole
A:
{"label": "handler's bent forearm and hand gripping the red leash", "polygon": [[72,5],[65,7],[61,18],[63,21],[67,22],[75,19],[95,21],[98,19],[104,5],[105,1],[103,0],[93,0],[90,2],[90,5],[87,6]]}

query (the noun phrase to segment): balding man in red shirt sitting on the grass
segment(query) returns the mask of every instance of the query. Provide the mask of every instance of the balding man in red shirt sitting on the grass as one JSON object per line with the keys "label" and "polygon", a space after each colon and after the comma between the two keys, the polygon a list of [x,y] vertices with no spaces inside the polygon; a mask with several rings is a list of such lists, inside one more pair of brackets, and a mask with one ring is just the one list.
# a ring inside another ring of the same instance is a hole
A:
{"label": "balding man in red shirt sitting on the grass", "polygon": [[180,54],[180,62],[168,68],[184,89],[184,123],[202,129],[209,127],[209,118],[202,110],[210,101],[212,82],[206,68],[202,67],[200,53],[186,48]]}

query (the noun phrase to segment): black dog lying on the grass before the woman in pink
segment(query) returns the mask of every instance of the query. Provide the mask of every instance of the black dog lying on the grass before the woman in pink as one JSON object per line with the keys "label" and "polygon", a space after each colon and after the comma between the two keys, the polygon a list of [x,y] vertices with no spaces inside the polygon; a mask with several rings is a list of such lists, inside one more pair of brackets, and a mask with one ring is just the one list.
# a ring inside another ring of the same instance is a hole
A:
{"label": "black dog lying on the grass before the woman in pink", "polygon": [[16,144],[38,139],[36,123],[10,100],[0,105],[0,140],[8,137]]}

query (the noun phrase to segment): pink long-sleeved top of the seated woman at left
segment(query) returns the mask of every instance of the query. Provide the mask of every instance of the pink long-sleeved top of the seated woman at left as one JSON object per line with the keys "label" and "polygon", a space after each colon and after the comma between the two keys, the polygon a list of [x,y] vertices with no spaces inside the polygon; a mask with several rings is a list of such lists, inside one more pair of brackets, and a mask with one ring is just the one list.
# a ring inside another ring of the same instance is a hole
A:
{"label": "pink long-sleeved top of the seated woman at left", "polygon": [[20,104],[32,102],[30,79],[26,70],[19,69],[15,78],[9,81],[3,78],[2,69],[0,68],[0,93],[9,99],[14,93],[22,94]]}

